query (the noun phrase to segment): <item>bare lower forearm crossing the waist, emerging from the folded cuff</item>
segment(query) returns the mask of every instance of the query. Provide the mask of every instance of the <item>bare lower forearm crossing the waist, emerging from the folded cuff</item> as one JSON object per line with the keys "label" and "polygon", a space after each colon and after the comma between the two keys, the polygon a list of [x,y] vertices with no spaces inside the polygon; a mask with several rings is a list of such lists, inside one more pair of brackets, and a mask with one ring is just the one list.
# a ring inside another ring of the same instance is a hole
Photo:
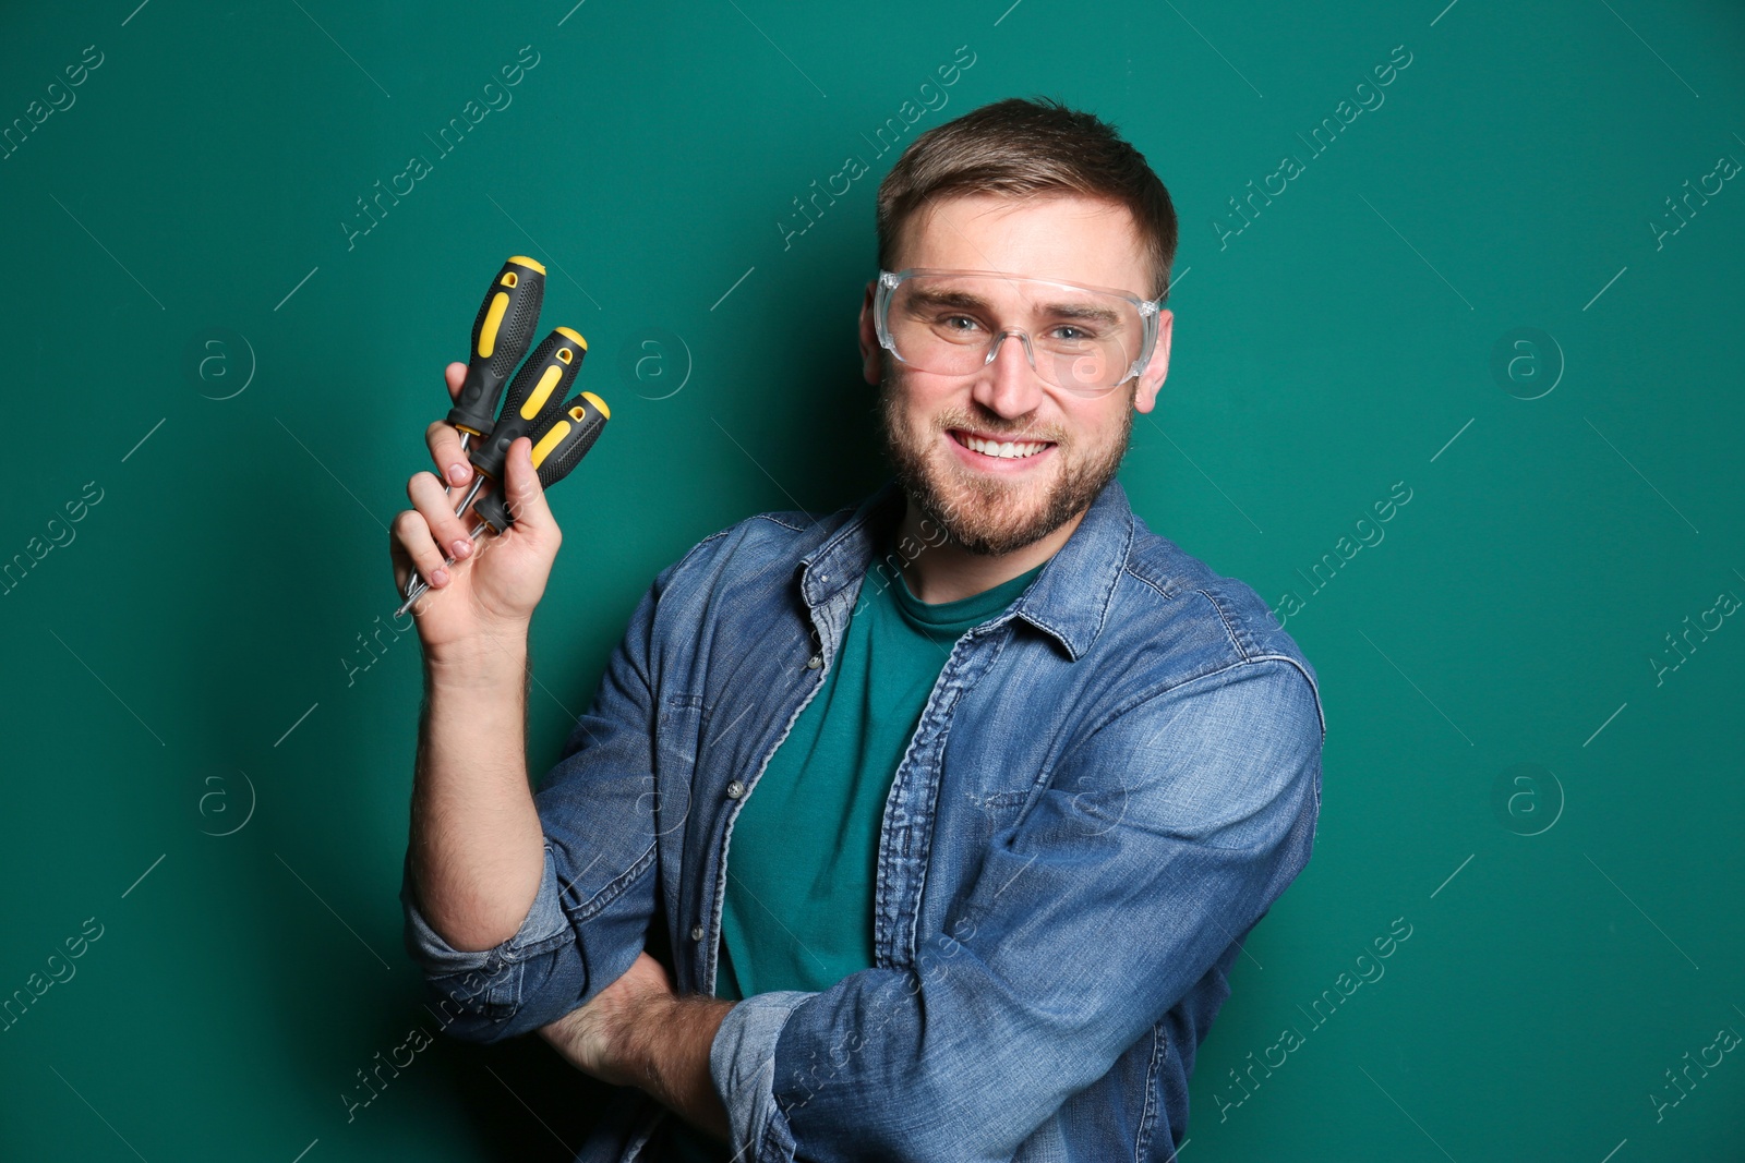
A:
{"label": "bare lower forearm crossing the waist, emerging from the folded cuff", "polygon": [[667,969],[642,954],[621,978],[539,1036],[583,1074],[637,1086],[719,1139],[728,1111],[708,1074],[708,1046],[733,1003],[681,997]]}

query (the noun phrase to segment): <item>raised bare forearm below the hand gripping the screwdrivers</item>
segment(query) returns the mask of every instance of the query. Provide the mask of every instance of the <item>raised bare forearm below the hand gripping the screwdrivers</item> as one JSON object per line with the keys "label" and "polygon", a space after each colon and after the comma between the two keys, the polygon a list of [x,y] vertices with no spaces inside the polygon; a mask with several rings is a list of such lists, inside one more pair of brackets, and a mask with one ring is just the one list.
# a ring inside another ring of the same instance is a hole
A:
{"label": "raised bare forearm below the hand gripping the screwdrivers", "polygon": [[527,635],[424,659],[412,783],[412,881],[461,950],[515,936],[539,891],[544,839],[527,781]]}

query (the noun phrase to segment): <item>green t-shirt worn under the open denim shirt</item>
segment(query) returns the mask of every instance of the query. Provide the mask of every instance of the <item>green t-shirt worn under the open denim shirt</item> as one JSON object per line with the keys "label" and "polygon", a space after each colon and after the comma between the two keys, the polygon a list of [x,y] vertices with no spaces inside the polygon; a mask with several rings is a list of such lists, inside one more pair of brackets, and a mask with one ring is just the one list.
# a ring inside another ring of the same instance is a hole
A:
{"label": "green t-shirt worn under the open denim shirt", "polygon": [[[717,997],[822,992],[872,966],[874,865],[897,764],[951,647],[1040,572],[927,603],[883,558],[867,570],[824,685],[733,821]],[[674,1132],[679,1158],[726,1158],[679,1119]]]}

